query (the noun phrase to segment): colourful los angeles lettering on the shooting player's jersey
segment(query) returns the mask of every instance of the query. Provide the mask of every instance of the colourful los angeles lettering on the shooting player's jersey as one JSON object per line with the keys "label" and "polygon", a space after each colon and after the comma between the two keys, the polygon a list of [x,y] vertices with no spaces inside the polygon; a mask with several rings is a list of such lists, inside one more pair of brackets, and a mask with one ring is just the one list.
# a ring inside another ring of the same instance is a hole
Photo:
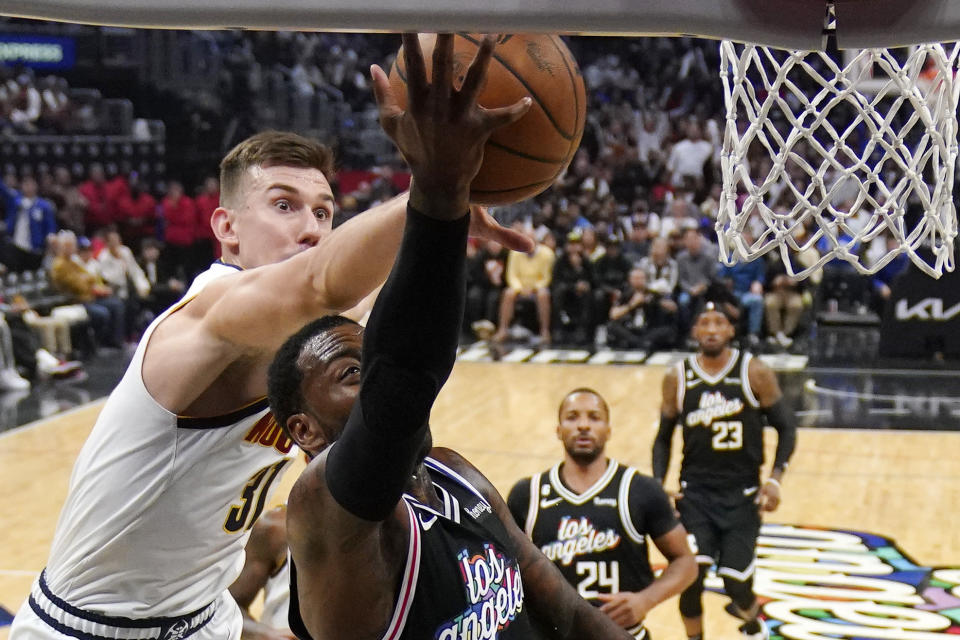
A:
{"label": "colourful los angeles lettering on the shooting player's jersey", "polygon": [[520,568],[491,544],[482,554],[457,555],[469,606],[437,629],[437,640],[493,640],[523,610]]}

